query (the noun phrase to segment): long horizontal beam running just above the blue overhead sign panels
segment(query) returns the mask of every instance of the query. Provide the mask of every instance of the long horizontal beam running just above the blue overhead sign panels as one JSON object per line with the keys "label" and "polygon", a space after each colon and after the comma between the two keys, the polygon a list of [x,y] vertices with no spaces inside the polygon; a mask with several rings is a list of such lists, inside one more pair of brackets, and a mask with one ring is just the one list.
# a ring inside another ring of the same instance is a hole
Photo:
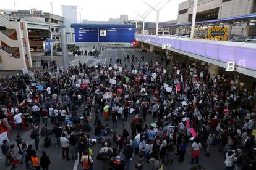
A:
{"label": "long horizontal beam running just above the blue overhead sign panels", "polygon": [[135,25],[126,24],[88,24],[72,23],[71,28],[135,28]]}

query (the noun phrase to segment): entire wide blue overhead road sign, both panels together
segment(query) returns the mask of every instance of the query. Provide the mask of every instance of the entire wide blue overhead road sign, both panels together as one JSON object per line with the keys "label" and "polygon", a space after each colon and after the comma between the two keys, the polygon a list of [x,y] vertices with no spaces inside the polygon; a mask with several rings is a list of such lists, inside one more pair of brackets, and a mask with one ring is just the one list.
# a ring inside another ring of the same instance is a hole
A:
{"label": "entire wide blue overhead road sign, both panels together", "polygon": [[75,42],[132,43],[134,32],[134,28],[75,28]]}

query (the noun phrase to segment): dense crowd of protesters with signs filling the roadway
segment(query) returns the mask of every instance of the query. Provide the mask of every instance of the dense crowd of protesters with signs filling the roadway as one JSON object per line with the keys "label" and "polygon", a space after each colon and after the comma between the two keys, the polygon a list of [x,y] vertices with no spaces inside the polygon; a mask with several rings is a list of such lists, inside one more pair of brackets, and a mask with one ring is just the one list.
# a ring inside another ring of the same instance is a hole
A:
{"label": "dense crowd of protesters with signs filling the roadway", "polygon": [[[43,136],[44,147],[52,142],[62,147],[62,158],[79,159],[83,169],[93,169],[98,159],[105,169],[141,170],[149,163],[158,170],[175,156],[186,161],[186,154],[191,169],[204,169],[200,156],[211,156],[213,145],[223,153],[226,169],[255,169],[255,87],[246,88],[238,76],[210,75],[208,66],[182,59],[171,60],[171,70],[135,59],[117,68],[79,63],[54,76],[45,70],[1,79],[1,126],[19,129],[22,155],[17,159],[15,145],[4,140],[6,166],[14,169],[25,159],[27,169],[48,169],[49,156],[38,146]],[[118,134],[117,122],[129,119],[130,129]],[[22,139],[28,129],[35,148]],[[101,146],[99,153],[93,153],[94,144]],[[139,159],[130,165],[134,155]]]}

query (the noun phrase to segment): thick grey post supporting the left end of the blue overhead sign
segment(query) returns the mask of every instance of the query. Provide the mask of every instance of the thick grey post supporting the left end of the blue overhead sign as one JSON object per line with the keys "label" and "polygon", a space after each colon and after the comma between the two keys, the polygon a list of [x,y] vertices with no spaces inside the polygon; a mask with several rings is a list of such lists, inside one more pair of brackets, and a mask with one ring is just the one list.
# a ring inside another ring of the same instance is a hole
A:
{"label": "thick grey post supporting the left end of the blue overhead sign", "polygon": [[66,41],[66,26],[61,26],[61,46],[62,46],[62,61],[63,61],[63,71],[66,73],[68,68],[67,63],[67,41]]}

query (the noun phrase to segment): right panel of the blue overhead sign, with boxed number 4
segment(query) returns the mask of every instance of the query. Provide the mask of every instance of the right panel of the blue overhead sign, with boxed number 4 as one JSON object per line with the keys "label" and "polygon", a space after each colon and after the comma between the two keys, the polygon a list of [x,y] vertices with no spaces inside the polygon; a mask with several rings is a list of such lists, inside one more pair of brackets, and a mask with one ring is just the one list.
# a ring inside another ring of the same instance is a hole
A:
{"label": "right panel of the blue overhead sign, with boxed number 4", "polygon": [[100,29],[100,42],[132,43],[133,41],[134,41],[133,28]]}

